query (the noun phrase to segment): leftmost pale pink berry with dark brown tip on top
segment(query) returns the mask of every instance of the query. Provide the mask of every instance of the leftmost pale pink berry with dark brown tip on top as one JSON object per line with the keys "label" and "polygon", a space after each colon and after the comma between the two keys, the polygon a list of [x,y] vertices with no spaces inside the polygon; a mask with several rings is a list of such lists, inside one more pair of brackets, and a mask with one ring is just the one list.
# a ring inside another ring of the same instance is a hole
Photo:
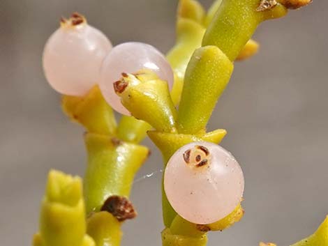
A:
{"label": "leftmost pale pink berry with dark brown tip on top", "polygon": [[89,26],[82,15],[61,20],[43,51],[45,77],[53,89],[65,95],[85,95],[100,77],[100,67],[112,49],[110,40]]}

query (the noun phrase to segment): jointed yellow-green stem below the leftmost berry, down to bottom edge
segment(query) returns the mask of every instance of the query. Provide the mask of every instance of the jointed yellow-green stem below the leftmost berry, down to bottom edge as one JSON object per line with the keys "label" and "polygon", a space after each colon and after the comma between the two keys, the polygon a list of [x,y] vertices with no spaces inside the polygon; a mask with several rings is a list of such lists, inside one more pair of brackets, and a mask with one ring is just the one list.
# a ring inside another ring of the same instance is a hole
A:
{"label": "jointed yellow-green stem below the leftmost berry, down to bottom edge", "polygon": [[[65,96],[62,107],[73,121],[88,131],[84,137],[88,152],[84,177],[84,200],[89,215],[87,232],[96,246],[108,243],[119,246],[121,223],[110,213],[98,211],[112,195],[129,196],[133,178],[149,155],[148,148],[138,143],[150,126],[133,117],[122,116],[117,127],[112,109],[98,86],[83,98]],[[91,213],[95,211],[97,213]],[[39,239],[36,236],[36,244]]]}

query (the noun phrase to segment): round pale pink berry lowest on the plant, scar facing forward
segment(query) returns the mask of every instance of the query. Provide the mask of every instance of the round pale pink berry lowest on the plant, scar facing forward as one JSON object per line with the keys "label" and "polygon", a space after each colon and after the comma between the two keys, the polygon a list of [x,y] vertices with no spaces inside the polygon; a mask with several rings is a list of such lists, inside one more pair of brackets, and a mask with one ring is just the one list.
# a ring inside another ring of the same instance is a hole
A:
{"label": "round pale pink berry lowest on the plant, scar facing forward", "polygon": [[244,175],[230,152],[216,144],[195,142],[170,158],[164,189],[171,206],[185,220],[211,224],[241,202]]}

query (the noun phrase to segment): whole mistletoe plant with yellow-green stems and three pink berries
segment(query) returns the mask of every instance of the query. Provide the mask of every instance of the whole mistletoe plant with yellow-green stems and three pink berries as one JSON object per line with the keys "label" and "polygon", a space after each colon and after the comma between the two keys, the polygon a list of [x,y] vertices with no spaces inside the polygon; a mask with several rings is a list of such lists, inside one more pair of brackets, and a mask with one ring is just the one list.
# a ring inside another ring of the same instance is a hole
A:
{"label": "whole mistletoe plant with yellow-green stems and three pink berries", "polygon": [[[78,13],[62,18],[43,67],[64,95],[64,112],[87,131],[88,164],[83,185],[50,171],[33,245],[119,246],[121,224],[137,214],[128,197],[149,155],[140,145],[147,135],[164,159],[163,245],[206,245],[209,231],[241,220],[241,167],[218,146],[227,132],[206,126],[234,61],[257,52],[258,25],[310,2],[216,0],[206,12],[196,0],[180,0],[177,43],[166,57],[144,43],[113,48]],[[112,109],[123,114],[118,124]],[[294,246],[324,245],[328,220]]]}

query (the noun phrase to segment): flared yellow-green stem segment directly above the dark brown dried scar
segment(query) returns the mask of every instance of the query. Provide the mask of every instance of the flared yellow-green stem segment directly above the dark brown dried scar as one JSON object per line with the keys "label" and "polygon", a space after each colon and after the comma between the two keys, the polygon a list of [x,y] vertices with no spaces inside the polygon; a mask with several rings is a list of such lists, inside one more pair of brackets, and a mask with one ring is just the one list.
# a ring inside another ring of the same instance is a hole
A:
{"label": "flared yellow-green stem segment directly above the dark brown dried scar", "polygon": [[84,176],[87,213],[99,211],[112,195],[128,197],[135,174],[147,159],[147,147],[107,135],[86,134],[88,166]]}

